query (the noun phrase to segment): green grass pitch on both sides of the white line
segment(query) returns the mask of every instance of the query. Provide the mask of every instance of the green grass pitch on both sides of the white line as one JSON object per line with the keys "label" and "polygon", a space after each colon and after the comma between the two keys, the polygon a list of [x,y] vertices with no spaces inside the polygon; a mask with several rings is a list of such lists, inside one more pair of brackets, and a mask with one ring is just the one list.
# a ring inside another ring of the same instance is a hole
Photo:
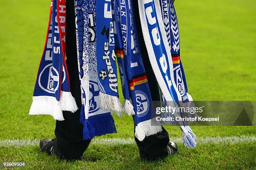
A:
{"label": "green grass pitch on both sides of the white line", "polygon": [[[194,100],[256,100],[256,2],[176,0],[181,57]],[[54,137],[55,121],[29,116],[44,47],[49,0],[0,1],[0,140]],[[133,138],[131,117],[114,116],[117,134]],[[166,127],[180,138],[179,127]],[[192,127],[198,137],[255,135],[255,127]],[[253,169],[255,144],[180,145],[179,155],[149,163],[136,145],[91,145],[84,161],[48,157],[38,147],[0,147],[0,161],[25,161],[28,169]]]}

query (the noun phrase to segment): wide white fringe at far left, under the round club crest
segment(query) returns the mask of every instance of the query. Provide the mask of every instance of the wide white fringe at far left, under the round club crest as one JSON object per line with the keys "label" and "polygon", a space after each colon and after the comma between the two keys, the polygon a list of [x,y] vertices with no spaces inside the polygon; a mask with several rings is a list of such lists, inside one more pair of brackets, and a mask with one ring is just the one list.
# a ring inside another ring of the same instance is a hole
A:
{"label": "wide white fringe at far left, under the round club crest", "polygon": [[29,115],[51,115],[55,120],[64,120],[60,102],[51,96],[33,96]]}

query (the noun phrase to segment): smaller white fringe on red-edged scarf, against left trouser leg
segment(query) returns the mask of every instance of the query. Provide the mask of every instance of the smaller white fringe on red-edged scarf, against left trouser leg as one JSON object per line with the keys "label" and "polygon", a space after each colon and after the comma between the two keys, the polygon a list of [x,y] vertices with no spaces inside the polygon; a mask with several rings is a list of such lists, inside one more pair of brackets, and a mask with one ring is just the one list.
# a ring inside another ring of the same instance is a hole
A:
{"label": "smaller white fringe on red-edged scarf, against left trouser leg", "polygon": [[72,96],[71,92],[61,91],[60,105],[61,110],[70,111],[72,113],[78,110],[76,100]]}

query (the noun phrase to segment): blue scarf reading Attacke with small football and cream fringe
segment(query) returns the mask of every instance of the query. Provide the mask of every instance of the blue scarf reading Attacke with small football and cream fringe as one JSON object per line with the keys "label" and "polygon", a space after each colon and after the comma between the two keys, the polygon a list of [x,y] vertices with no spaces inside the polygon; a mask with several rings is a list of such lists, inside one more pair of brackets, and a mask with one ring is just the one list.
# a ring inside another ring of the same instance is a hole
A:
{"label": "blue scarf reading Attacke with small football and cream fringe", "polygon": [[[89,18],[90,21],[90,18]],[[92,24],[90,21],[90,25]],[[114,26],[111,2],[97,0],[97,71],[100,87],[100,106],[102,109],[116,112],[123,111],[118,97],[118,77],[115,55]],[[93,37],[93,36],[92,36]]]}

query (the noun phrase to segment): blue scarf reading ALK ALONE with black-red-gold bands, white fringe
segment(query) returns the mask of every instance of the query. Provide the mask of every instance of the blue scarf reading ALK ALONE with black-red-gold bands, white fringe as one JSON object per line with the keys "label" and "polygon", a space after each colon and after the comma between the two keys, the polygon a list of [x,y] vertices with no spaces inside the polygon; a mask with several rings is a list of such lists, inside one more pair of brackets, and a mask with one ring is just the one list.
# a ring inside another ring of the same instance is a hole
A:
{"label": "blue scarf reading ALK ALONE with black-red-gold bands, white fringe", "polygon": [[[161,132],[161,122],[157,122],[151,99],[147,77],[143,66],[138,36],[134,22],[133,5],[130,0],[114,0],[115,32],[117,34],[118,64],[122,70],[124,96],[128,100],[130,91],[134,107],[135,136],[142,141],[146,136]],[[125,76],[126,75],[126,76]],[[126,78],[126,80],[125,80]],[[128,85],[125,84],[128,82]],[[129,89],[128,89],[129,86]],[[132,114],[132,113],[131,113]]]}

